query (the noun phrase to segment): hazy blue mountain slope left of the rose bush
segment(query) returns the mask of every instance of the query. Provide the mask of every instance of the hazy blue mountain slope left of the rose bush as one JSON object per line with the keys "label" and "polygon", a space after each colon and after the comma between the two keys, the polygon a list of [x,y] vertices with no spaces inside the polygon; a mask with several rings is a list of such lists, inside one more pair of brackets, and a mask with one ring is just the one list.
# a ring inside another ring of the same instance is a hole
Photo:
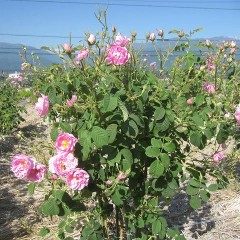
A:
{"label": "hazy blue mountain slope left of the rose bush", "polygon": [[[26,47],[26,58],[29,63],[32,63],[31,53],[34,53],[35,61],[41,66],[50,66],[52,63],[60,63],[60,59],[45,50],[37,49],[23,44],[11,44],[0,42],[0,73],[21,71],[23,63],[19,54],[24,54],[23,47]],[[39,56],[40,60],[37,60]]]}

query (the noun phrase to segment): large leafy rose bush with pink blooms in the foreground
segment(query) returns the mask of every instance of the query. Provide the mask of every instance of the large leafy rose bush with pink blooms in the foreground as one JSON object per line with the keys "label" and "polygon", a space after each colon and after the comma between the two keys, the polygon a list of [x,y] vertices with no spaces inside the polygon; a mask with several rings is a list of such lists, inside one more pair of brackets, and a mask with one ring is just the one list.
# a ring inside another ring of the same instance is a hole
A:
{"label": "large leafy rose bush with pink blooms in the foreground", "polygon": [[[57,151],[41,183],[50,188],[41,212],[62,218],[60,239],[73,239],[74,231],[81,240],[184,239],[164,211],[169,200],[185,184],[190,206],[199,208],[228,183],[218,166],[223,144],[239,137],[240,68],[231,52],[237,46],[200,42],[208,55],[199,57],[190,50],[192,33],[173,30],[185,40],[163,56],[151,34],[160,68],[148,69],[134,50],[136,34],[128,39],[114,27],[110,35],[102,17],[102,33],[88,35],[83,46],[62,46],[64,56],[51,49],[62,65],[34,69],[34,92],[49,101],[39,113],[48,112]],[[163,30],[158,34],[164,38]],[[165,69],[175,51],[182,54]],[[193,155],[210,144],[215,151],[207,157]],[[16,158],[13,172],[27,178],[34,165]]]}

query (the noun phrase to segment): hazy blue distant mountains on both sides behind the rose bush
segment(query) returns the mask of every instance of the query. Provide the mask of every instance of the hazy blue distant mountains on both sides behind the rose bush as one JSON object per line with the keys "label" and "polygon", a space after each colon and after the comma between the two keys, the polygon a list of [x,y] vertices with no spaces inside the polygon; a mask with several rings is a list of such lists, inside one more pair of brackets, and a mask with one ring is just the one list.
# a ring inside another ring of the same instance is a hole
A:
{"label": "hazy blue distant mountains on both sides behind the rose bush", "polygon": [[[176,44],[176,38],[166,39],[165,42],[156,40],[156,48],[161,49],[161,51],[166,51],[168,48],[173,48]],[[198,38],[198,39],[192,39],[192,47],[191,51],[196,52],[196,54],[199,54],[197,51],[197,48],[194,47],[194,44],[199,41],[205,41],[206,39]],[[234,38],[229,37],[213,37],[209,38],[210,41],[215,43],[222,43],[225,41],[236,41],[237,46],[240,46],[240,40],[236,40]],[[35,59],[37,56],[40,57],[40,61],[37,61],[38,64],[41,66],[50,66],[52,63],[61,63],[61,60],[54,54],[52,54],[49,51],[37,49],[31,46],[24,46],[23,44],[11,44],[11,43],[3,43],[0,42],[0,74],[1,72],[15,72],[15,71],[21,71],[21,64],[22,59],[20,58],[19,54],[23,54],[23,47],[27,48],[27,54],[26,57],[28,61],[32,62],[31,52],[34,52]],[[152,43],[149,41],[148,43],[135,43],[134,48],[136,50],[142,50],[142,56],[148,59],[148,62],[157,61],[157,55],[156,51],[152,45]],[[179,55],[181,53],[175,53],[174,56],[171,56],[171,60],[175,58],[175,56]],[[239,59],[239,53],[236,55],[236,57]]]}

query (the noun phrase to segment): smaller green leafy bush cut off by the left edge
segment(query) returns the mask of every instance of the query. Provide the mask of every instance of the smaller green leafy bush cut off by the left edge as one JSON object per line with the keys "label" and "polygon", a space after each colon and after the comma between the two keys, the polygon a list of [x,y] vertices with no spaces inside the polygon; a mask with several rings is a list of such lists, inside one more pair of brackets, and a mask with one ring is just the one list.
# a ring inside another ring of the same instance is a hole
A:
{"label": "smaller green leafy bush cut off by the left edge", "polygon": [[16,86],[8,81],[0,83],[0,135],[11,133],[24,120],[21,117],[24,107],[19,104],[20,99]]}

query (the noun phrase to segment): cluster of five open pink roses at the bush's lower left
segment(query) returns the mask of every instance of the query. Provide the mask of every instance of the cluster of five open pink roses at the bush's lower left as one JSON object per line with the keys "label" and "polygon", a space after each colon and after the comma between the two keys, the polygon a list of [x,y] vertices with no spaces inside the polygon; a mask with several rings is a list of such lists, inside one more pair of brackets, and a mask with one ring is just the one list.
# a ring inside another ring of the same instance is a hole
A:
{"label": "cluster of five open pink roses at the bush's lower left", "polygon": [[[89,182],[88,173],[78,168],[78,160],[73,155],[77,142],[78,139],[72,134],[59,134],[55,143],[57,154],[49,160],[49,171],[54,176],[65,177],[67,186],[73,190],[81,190]],[[47,167],[37,163],[35,158],[17,154],[12,158],[11,170],[17,178],[41,182]]]}

